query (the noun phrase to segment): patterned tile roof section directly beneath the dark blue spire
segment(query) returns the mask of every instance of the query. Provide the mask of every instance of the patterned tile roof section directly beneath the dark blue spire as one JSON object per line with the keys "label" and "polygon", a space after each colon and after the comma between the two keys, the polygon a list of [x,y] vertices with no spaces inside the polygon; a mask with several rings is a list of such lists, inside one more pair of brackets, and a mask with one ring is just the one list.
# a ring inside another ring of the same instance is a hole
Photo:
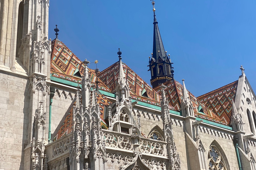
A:
{"label": "patterned tile roof section directly beneath the dark blue spire", "polygon": [[[183,85],[181,85],[178,81],[170,80],[164,83],[166,86],[165,88],[165,94],[166,98],[169,101],[169,105],[173,107],[176,111],[181,110],[181,102],[182,102],[182,90]],[[157,86],[154,88],[156,92],[161,95],[161,86]],[[199,100],[189,91],[187,91],[189,94],[189,98],[192,101],[192,105],[194,108],[195,117],[199,117],[201,119],[205,119],[211,122],[216,122],[219,124],[227,125],[225,122],[223,122],[218,116],[212,113],[211,110],[209,110],[203,103],[199,102]],[[200,113],[198,111],[199,105],[203,109],[203,113]]]}

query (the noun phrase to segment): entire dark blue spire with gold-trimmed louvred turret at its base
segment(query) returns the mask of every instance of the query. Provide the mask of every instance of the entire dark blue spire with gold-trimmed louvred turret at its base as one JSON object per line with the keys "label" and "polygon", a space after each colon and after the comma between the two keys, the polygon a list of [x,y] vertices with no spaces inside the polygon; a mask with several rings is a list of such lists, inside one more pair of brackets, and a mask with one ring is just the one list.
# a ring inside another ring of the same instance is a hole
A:
{"label": "entire dark blue spire with gold-trimmed louvred turret at its base", "polygon": [[[158,22],[156,20],[155,2],[152,0],[153,12],[154,12],[154,39],[153,39],[153,52],[152,57],[149,59],[149,70],[151,71],[150,83],[153,88],[159,86],[166,81],[173,79],[173,67],[170,60],[170,54],[167,55],[167,51],[164,50],[164,44],[158,28]],[[168,57],[169,56],[169,57]],[[149,71],[148,70],[148,71]]]}

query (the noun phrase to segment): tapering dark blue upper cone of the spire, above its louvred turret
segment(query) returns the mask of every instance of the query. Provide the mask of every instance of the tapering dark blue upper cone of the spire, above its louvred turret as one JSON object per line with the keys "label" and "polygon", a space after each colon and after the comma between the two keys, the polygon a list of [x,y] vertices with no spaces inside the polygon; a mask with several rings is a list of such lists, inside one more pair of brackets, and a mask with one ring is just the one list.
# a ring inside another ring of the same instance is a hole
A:
{"label": "tapering dark blue upper cone of the spire, above its louvred turret", "polygon": [[152,2],[153,5],[153,12],[154,12],[154,40],[153,40],[153,55],[152,57],[156,59],[156,61],[158,61],[159,58],[161,58],[162,60],[165,60],[165,58],[167,57],[166,52],[164,50],[164,44],[162,42],[162,38],[159,32],[159,28],[158,28],[158,22],[156,20],[156,9],[155,9],[155,2]]}

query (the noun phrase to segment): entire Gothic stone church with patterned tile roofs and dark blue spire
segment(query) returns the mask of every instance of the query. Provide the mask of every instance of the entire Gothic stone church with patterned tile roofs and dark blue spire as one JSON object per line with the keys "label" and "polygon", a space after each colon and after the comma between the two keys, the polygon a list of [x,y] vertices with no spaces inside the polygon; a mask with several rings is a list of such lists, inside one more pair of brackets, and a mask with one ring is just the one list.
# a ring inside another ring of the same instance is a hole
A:
{"label": "entire Gothic stone church with patterned tile roofs and dark blue spire", "polygon": [[0,170],[256,170],[245,69],[195,97],[174,78],[152,5],[149,85],[122,49],[99,71],[57,25],[49,39],[49,0],[0,0]]}

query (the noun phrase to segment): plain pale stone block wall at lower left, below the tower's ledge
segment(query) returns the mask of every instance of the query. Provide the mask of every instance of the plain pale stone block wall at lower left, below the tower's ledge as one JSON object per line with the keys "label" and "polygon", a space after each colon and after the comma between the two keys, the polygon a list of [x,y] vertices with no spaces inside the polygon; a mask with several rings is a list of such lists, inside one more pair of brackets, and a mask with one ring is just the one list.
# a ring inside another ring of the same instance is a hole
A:
{"label": "plain pale stone block wall at lower left, below the tower's ledge", "polygon": [[0,70],[0,169],[23,170],[27,145],[29,80]]}

